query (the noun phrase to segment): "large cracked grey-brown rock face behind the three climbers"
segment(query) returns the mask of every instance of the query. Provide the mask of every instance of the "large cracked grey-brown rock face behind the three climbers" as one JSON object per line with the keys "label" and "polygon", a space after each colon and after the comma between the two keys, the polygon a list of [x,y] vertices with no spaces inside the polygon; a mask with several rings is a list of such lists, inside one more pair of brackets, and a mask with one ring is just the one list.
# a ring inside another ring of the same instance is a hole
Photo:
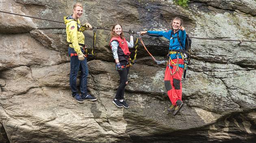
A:
{"label": "large cracked grey-brown rock face behind the three climbers", "polygon": [[[0,10],[63,21],[74,2],[0,0]],[[171,18],[184,19],[192,37],[256,39],[255,0],[87,0],[82,23],[111,28],[167,30]],[[182,79],[184,107],[177,116],[163,83],[165,65],[156,65],[139,44],[125,98],[113,100],[119,75],[108,46],[109,31],[97,29],[96,59],[89,59],[89,92],[95,102],[77,103],[69,89],[65,25],[0,13],[0,142],[215,143],[256,140],[256,43],[192,39],[192,59]],[[91,51],[93,32],[85,43]],[[128,37],[128,34],[125,35]],[[162,59],[169,41],[143,36]],[[134,53],[134,50],[131,50]],[[79,80],[78,80],[79,83]]]}

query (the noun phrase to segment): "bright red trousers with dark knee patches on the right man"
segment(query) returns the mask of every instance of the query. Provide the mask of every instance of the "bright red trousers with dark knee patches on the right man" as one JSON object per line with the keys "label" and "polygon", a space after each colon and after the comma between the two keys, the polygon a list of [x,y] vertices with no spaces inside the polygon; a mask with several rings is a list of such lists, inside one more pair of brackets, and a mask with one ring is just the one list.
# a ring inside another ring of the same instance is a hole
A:
{"label": "bright red trousers with dark knee patches on the right man", "polygon": [[[177,59],[173,59],[172,60],[174,63],[177,63]],[[180,65],[184,65],[184,61],[183,59],[179,59],[179,64]],[[170,65],[171,68],[169,68],[169,65],[167,65],[166,69],[165,69],[165,88],[167,90],[167,94],[169,99],[171,100],[171,103],[173,105],[176,105],[176,101],[177,100],[181,100],[182,98],[182,83],[181,83],[181,78],[182,78],[182,73],[183,73],[183,68],[182,67],[178,67],[178,66],[173,66],[172,64]],[[179,68],[178,71],[176,71],[176,69]],[[170,73],[174,73],[176,71],[175,74],[171,75]]]}

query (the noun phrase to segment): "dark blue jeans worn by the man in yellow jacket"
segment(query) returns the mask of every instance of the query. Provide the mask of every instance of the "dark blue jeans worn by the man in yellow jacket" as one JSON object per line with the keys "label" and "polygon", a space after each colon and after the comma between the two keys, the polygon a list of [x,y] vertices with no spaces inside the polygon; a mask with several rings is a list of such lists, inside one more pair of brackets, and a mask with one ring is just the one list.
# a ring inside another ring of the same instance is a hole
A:
{"label": "dark blue jeans worn by the man in yellow jacket", "polygon": [[[82,50],[82,48],[81,48]],[[82,52],[84,52],[82,50]],[[70,57],[71,53],[76,53],[74,48],[68,47],[68,55]],[[83,95],[87,95],[87,78],[88,78],[88,66],[87,66],[87,59],[85,58],[84,61],[80,61],[78,59],[78,56],[72,56],[70,57],[70,75],[69,75],[69,85],[72,91],[72,96],[78,94],[78,89],[76,87],[76,77],[78,74],[78,71],[81,71],[80,75],[80,92]]]}

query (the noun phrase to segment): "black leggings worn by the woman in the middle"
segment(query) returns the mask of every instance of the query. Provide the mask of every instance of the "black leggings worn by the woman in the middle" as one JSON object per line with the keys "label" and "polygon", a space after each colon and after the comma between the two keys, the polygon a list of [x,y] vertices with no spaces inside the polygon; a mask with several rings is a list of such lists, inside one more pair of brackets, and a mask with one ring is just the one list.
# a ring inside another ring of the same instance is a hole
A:
{"label": "black leggings worn by the woman in the middle", "polygon": [[130,67],[123,68],[121,71],[118,71],[120,76],[120,84],[117,88],[117,94],[115,95],[115,99],[124,99],[124,88],[126,86],[126,82],[128,82],[128,72]]}

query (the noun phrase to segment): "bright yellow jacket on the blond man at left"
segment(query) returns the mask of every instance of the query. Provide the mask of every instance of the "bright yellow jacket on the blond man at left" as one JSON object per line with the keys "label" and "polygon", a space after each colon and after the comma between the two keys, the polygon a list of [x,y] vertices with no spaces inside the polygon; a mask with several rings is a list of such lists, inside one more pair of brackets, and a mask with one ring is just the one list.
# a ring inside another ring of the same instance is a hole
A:
{"label": "bright yellow jacket on the blond man at left", "polygon": [[74,48],[77,55],[82,55],[83,53],[80,49],[82,46],[79,44],[85,44],[85,36],[82,32],[86,28],[81,27],[79,19],[74,19],[72,15],[64,17],[64,21],[66,24],[67,42],[72,43],[69,46]]}

